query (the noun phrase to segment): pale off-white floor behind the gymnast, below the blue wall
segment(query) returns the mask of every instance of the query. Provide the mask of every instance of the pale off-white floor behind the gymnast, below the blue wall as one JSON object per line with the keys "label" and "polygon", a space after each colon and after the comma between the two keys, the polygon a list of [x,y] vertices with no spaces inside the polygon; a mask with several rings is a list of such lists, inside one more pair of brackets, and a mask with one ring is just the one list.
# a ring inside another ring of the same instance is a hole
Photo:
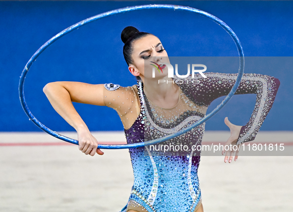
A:
{"label": "pale off-white floor behind the gymnast, below the blue wall", "polygon": [[[106,143],[125,142],[124,132],[92,133]],[[293,141],[292,132],[259,134]],[[204,140],[227,136],[207,132]],[[119,212],[126,205],[133,184],[127,149],[91,157],[62,142],[43,132],[0,133],[0,212]],[[240,156],[232,163],[202,156],[198,175],[204,212],[293,212],[292,156]]]}

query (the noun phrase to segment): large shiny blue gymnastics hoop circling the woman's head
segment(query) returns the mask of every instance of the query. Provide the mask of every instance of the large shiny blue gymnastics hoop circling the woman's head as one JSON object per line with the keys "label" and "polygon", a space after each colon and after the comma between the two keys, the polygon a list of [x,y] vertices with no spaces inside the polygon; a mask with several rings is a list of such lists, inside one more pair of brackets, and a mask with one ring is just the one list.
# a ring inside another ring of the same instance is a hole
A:
{"label": "large shiny blue gymnastics hoop circling the woman's head", "polygon": [[239,54],[239,69],[238,69],[238,76],[237,79],[235,81],[235,84],[233,86],[233,88],[231,89],[230,93],[226,96],[226,98],[222,101],[222,103],[220,103],[212,112],[210,112],[208,115],[205,115],[202,119],[200,119],[199,121],[197,121],[196,123],[190,125],[189,127],[186,127],[184,130],[180,130],[174,134],[170,134],[168,136],[162,137],[162,138],[158,138],[152,141],[146,141],[146,142],[140,142],[140,143],[135,143],[135,144],[121,144],[121,145],[105,145],[105,144],[99,144],[98,145],[98,149],[130,149],[130,148],[139,148],[139,147],[143,147],[143,146],[148,146],[148,145],[154,145],[157,143],[161,143],[164,142],[166,140],[175,138],[179,135],[184,134],[185,132],[191,130],[192,128],[204,123],[205,121],[207,121],[208,119],[210,119],[213,115],[215,115],[223,106],[225,106],[228,101],[232,98],[232,96],[234,95],[234,93],[236,92],[242,75],[243,75],[243,70],[244,70],[244,53],[242,50],[242,47],[240,45],[240,41],[237,38],[236,34],[233,32],[233,30],[227,25],[225,24],[222,20],[220,20],[219,18],[213,16],[210,13],[207,13],[205,11],[199,10],[199,9],[195,9],[192,7],[187,7],[187,6],[179,6],[179,5],[172,5],[172,4],[148,4],[148,5],[138,5],[138,6],[130,6],[130,7],[123,7],[120,9],[115,9],[115,10],[111,10],[108,12],[104,12],[95,16],[92,16],[90,18],[87,18],[83,21],[80,21],[66,29],[64,29],[63,31],[61,31],[60,33],[58,33],[57,35],[55,35],[53,38],[51,38],[49,41],[47,41],[42,47],[40,47],[40,49],[38,49],[38,51],[36,53],[34,53],[34,55],[29,59],[29,61],[27,62],[27,64],[25,65],[21,76],[20,76],[20,80],[19,80],[19,99],[20,99],[20,103],[21,106],[24,110],[24,112],[27,114],[27,116],[29,117],[29,120],[31,120],[34,124],[36,124],[40,129],[42,129],[43,131],[45,131],[46,133],[60,139],[66,142],[69,142],[71,144],[76,144],[78,145],[78,141],[74,140],[72,138],[68,138],[66,136],[63,136],[51,129],[49,129],[48,127],[46,127],[44,124],[42,124],[39,120],[36,119],[36,117],[31,113],[31,111],[29,110],[26,102],[25,102],[25,98],[24,98],[24,80],[26,77],[26,74],[28,72],[28,70],[30,69],[30,67],[32,66],[33,62],[37,59],[37,57],[45,51],[45,49],[47,49],[51,44],[53,44],[56,40],[58,40],[59,38],[63,37],[64,35],[68,34],[69,32],[72,32],[75,29],[78,29],[81,26],[84,26],[92,21],[98,20],[100,18],[104,18],[110,15],[114,15],[114,14],[118,14],[118,13],[122,13],[122,12],[129,12],[129,11],[133,11],[133,10],[139,10],[139,9],[158,9],[158,8],[162,8],[162,9],[174,9],[174,10],[185,10],[185,11],[190,11],[190,12],[195,12],[198,13],[202,16],[205,16],[211,20],[213,20],[214,22],[216,22],[217,24],[219,24],[222,28],[224,28],[226,30],[226,32],[228,32],[230,34],[230,36],[232,37],[232,39],[235,42],[235,45],[237,47],[237,51]]}

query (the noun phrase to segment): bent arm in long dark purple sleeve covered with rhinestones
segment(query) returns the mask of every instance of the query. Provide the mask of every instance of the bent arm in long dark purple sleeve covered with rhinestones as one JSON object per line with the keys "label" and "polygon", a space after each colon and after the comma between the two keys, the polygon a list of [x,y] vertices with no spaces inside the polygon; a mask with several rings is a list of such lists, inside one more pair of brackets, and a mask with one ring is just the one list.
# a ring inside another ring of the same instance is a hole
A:
{"label": "bent arm in long dark purple sleeve covered with rhinestones", "polygon": [[[190,94],[199,106],[209,106],[215,99],[226,96],[231,91],[238,74],[205,73],[207,78],[199,74],[194,79],[201,83],[190,89],[195,91]],[[247,124],[241,127],[236,145],[252,141],[259,131],[264,119],[273,106],[278,88],[279,79],[262,74],[244,73],[235,94],[256,94],[256,103]]]}

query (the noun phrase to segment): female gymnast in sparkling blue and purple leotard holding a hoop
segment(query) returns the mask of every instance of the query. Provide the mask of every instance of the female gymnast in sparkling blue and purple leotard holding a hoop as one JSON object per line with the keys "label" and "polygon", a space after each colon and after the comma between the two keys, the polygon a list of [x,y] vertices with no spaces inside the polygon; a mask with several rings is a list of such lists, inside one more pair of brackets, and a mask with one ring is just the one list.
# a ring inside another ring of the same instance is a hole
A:
{"label": "female gymnast in sparkling blue and purple leotard holding a hoop", "polygon": [[[121,87],[118,84],[87,84],[81,82],[51,82],[43,91],[54,109],[77,131],[79,150],[90,156],[104,153],[97,149],[98,141],[75,110],[72,102],[108,106],[117,111],[124,127],[127,143],[154,140],[200,120],[211,102],[229,94],[237,74],[204,73],[169,78],[166,65],[152,76],[152,64],[168,63],[169,58],[160,39],[153,34],[126,27],[121,33],[123,55],[137,84]],[[149,64],[148,64],[149,63]],[[191,80],[200,83],[190,83]],[[158,80],[173,83],[158,84]],[[147,83],[146,83],[147,81]],[[175,83],[174,83],[175,82]],[[146,85],[147,84],[147,85]],[[256,104],[248,123],[237,126],[225,118],[231,136],[225,145],[239,146],[255,138],[273,105],[280,81],[261,74],[243,74],[235,94],[256,94]],[[168,141],[170,151],[156,151],[150,146],[129,149],[134,183],[127,205],[121,212],[203,212],[198,180],[200,146],[205,123]],[[162,144],[161,144],[162,145]],[[173,150],[175,145],[188,148]],[[158,146],[160,147],[160,145]],[[155,147],[157,148],[157,147]],[[162,150],[162,149],[161,149]],[[238,158],[238,151],[222,151],[224,161]]]}

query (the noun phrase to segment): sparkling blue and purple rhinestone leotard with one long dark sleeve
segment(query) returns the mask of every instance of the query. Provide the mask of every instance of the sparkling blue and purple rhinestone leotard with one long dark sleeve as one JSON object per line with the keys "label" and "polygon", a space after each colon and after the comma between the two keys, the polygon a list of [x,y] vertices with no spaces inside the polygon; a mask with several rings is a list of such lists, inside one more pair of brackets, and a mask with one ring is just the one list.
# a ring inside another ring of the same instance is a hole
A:
{"label": "sparkling blue and purple rhinestone leotard with one long dark sleeve", "polygon": [[[198,84],[177,84],[180,98],[174,108],[164,109],[152,104],[144,95],[141,81],[112,93],[105,91],[104,103],[116,109],[120,115],[128,144],[153,140],[181,130],[204,117],[206,108],[213,100],[227,95],[237,77],[237,74],[222,73],[205,75],[207,78],[200,75],[187,77],[186,80],[199,79]],[[235,94],[256,94],[256,104],[248,123],[241,127],[237,144],[254,140],[273,105],[279,85],[280,81],[271,76],[243,74]],[[121,103],[118,104],[117,98],[114,99],[117,96],[121,98],[122,104],[127,104],[126,99],[131,103],[139,100],[140,106],[129,104],[126,106],[127,111],[118,110]],[[124,115],[128,113],[133,115]],[[128,121],[130,117],[137,118]],[[166,142],[201,145],[204,127],[205,123],[178,136],[176,140]],[[129,149],[129,153],[134,183],[128,203],[121,212],[194,212],[198,208],[201,202],[197,175],[200,152],[189,150],[180,154],[156,155],[149,147],[142,147]]]}

